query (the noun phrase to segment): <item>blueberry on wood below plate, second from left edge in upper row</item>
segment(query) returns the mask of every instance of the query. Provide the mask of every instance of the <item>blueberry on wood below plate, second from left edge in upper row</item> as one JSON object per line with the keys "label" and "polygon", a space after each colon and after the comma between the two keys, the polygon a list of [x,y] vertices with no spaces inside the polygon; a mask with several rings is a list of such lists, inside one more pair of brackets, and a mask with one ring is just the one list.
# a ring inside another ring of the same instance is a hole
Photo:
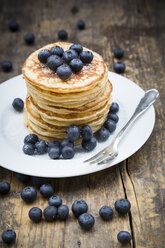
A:
{"label": "blueberry on wood below plate, second from left edge in upper row", "polygon": [[34,202],[37,198],[37,191],[34,187],[27,186],[21,191],[21,198],[27,203]]}

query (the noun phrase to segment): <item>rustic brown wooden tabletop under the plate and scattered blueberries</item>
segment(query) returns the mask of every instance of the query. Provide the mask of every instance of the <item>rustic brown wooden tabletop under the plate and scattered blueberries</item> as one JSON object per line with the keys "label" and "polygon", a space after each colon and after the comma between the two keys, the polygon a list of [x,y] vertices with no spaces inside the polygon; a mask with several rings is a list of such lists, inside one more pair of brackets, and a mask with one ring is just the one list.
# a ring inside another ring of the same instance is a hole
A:
{"label": "rustic brown wooden tabletop under the plate and scattered blueberries", "polygon": [[[73,6],[79,9],[75,14],[71,12]],[[56,41],[57,31],[65,29],[69,41],[80,42],[101,53],[109,70],[113,70],[113,49],[116,46],[124,48],[124,75],[144,90],[155,87],[160,91],[155,104],[154,131],[136,154],[99,173],[52,180],[55,192],[69,207],[75,199],[87,201],[89,212],[96,217],[92,231],[82,231],[71,213],[66,222],[32,223],[28,210],[32,206],[44,209],[47,202],[38,194],[34,204],[23,203],[20,199],[23,185],[16,180],[14,173],[1,167],[0,181],[9,181],[11,192],[0,198],[0,233],[6,228],[6,223],[14,228],[17,240],[11,247],[117,248],[121,247],[116,239],[117,233],[128,230],[133,239],[126,247],[164,248],[165,1],[1,0],[0,10],[1,61],[11,60],[13,63],[10,73],[0,69],[1,82],[20,74],[25,58],[42,45]],[[19,32],[8,31],[10,19],[19,22]],[[86,22],[84,31],[76,28],[80,19]],[[36,41],[32,46],[24,44],[23,36],[27,32],[35,34]],[[131,213],[123,218],[115,213],[112,221],[103,222],[98,216],[99,208],[104,204],[113,206],[120,197],[130,200]],[[0,247],[6,247],[1,240]]]}

